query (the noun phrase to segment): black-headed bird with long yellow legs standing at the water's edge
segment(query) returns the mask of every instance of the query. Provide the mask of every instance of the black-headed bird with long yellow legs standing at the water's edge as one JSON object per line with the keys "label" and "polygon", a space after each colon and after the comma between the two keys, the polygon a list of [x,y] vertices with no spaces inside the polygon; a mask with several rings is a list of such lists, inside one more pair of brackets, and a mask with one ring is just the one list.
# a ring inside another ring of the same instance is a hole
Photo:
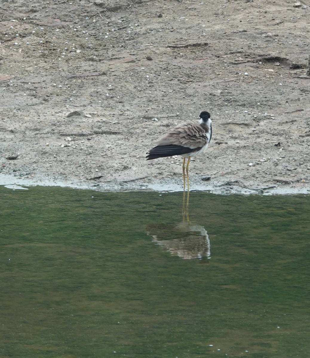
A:
{"label": "black-headed bird with long yellow legs standing at the water's edge", "polygon": [[[199,115],[198,123],[186,122],[172,129],[171,132],[158,139],[146,156],[147,160],[181,155],[183,159],[183,189],[185,193],[185,170],[187,178],[187,207],[189,203],[189,165],[191,157],[203,153],[212,137],[212,121],[209,112],[203,111]],[[187,164],[185,166],[185,159]],[[185,197],[183,197],[185,200]]]}

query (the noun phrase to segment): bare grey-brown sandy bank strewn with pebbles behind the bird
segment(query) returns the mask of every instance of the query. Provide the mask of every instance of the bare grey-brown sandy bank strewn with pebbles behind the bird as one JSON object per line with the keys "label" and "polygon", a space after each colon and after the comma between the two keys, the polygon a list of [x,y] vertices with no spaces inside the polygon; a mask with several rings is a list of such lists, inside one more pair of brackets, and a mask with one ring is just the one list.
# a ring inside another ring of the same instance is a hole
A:
{"label": "bare grey-brown sandy bank strewn with pebbles behind the bird", "polygon": [[306,3],[71,1],[1,3],[1,184],[182,189],[146,152],[206,110],[192,189],[309,191]]}

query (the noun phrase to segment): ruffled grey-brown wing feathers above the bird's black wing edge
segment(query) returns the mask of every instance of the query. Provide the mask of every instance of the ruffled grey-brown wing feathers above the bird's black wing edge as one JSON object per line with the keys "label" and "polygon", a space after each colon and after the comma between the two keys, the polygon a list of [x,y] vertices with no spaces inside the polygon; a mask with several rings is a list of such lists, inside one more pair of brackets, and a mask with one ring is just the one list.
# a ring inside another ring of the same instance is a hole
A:
{"label": "ruffled grey-brown wing feathers above the bird's black wing edge", "polygon": [[206,145],[208,138],[199,124],[184,123],[175,127],[170,133],[158,139],[156,145],[181,145],[196,149]]}

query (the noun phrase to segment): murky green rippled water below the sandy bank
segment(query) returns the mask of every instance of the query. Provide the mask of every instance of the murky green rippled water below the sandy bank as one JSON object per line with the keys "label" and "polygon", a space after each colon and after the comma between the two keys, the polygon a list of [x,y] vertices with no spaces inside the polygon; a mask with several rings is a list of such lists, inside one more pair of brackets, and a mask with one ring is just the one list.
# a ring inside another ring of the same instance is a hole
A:
{"label": "murky green rippled water below the sandy bank", "polygon": [[0,198],[1,358],[309,358],[310,196],[191,193],[191,260],[182,193]]}

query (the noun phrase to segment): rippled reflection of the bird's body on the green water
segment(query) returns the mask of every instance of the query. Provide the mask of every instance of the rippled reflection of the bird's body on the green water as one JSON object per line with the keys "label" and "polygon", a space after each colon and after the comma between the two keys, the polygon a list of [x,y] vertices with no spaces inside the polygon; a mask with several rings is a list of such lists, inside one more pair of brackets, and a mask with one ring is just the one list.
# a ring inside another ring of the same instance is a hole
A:
{"label": "rippled reflection of the bird's body on the green water", "polygon": [[153,242],[161,246],[173,256],[185,260],[191,258],[211,258],[210,239],[206,229],[189,220],[189,213],[184,208],[183,221],[176,225],[148,225],[147,234],[153,237]]}

